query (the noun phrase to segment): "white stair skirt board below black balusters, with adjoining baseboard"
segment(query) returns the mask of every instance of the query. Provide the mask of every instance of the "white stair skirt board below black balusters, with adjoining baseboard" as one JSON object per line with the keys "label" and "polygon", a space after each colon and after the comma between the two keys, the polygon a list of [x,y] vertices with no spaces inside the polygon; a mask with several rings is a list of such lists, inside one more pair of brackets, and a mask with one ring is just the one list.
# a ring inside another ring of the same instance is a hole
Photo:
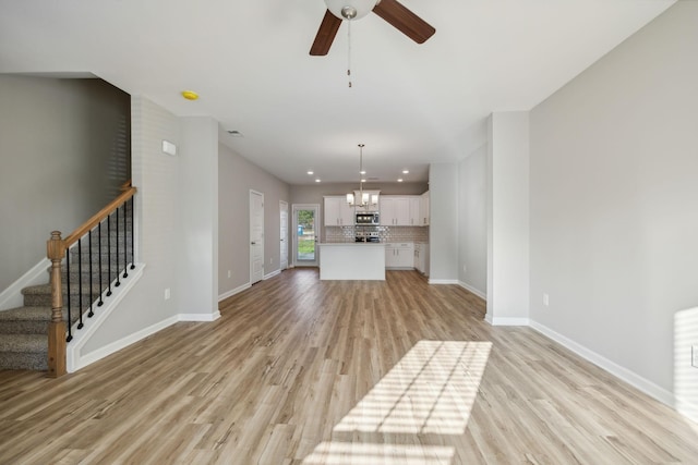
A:
{"label": "white stair skirt board below black balusters, with adjoining baseboard", "polygon": [[[73,331],[73,340],[68,344],[65,348],[65,366],[67,366],[68,372],[74,372],[80,368],[86,367],[93,362],[97,362],[98,359],[104,358],[107,355],[112,354],[113,352],[117,352],[122,347],[125,347],[125,345],[129,345],[129,344],[125,344],[120,346],[119,348],[111,350],[110,347],[119,342],[117,341],[117,342],[112,342],[109,345],[98,348],[97,351],[91,353],[87,356],[82,355],[82,348],[85,345],[85,343],[89,341],[89,338],[92,338],[95,331],[97,331],[97,329],[106,321],[107,317],[113,311],[115,308],[117,308],[117,305],[119,305],[119,303],[129,293],[129,291],[135,285],[135,283],[139,282],[139,280],[143,276],[144,268],[145,268],[145,264],[136,265],[135,269],[131,270],[131,273],[129,273],[130,278],[121,281],[120,286],[113,286],[113,285],[111,286],[111,296],[109,296],[108,298],[105,295],[106,294],[106,291],[105,291],[105,293],[103,293],[103,301],[105,305],[103,305],[101,307],[96,307],[94,317],[85,318],[83,320],[83,328],[80,331]],[[130,340],[130,338],[135,336],[136,334],[140,334],[141,332],[146,330],[148,330],[148,328],[146,328],[145,330],[139,331],[134,334],[131,334],[124,338],[124,340]],[[148,333],[146,335],[149,335],[149,334],[152,333]],[[145,338],[145,335],[139,339],[143,339],[143,338]],[[135,341],[137,341],[139,339],[136,339]],[[133,342],[131,342],[131,344]],[[96,355],[93,355],[93,354],[96,354]]]}

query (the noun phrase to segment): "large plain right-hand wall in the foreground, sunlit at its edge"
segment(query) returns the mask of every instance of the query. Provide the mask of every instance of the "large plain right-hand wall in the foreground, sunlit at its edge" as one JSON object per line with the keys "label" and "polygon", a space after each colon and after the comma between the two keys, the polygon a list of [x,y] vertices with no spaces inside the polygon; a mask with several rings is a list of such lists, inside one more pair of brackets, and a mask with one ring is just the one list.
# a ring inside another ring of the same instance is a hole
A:
{"label": "large plain right-hand wall in the foreground, sunlit at its edge", "polygon": [[674,363],[698,344],[695,311],[674,327],[698,305],[697,45],[677,2],[530,120],[531,318],[669,402],[698,372]]}

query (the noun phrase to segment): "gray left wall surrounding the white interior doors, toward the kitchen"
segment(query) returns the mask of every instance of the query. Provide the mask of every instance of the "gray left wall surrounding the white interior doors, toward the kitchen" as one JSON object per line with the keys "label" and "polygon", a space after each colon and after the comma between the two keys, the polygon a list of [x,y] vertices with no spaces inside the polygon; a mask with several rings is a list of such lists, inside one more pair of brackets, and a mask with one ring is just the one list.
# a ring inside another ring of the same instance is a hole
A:
{"label": "gray left wall surrounding the white interior doors, toward the kitchen", "polygon": [[[250,189],[264,194],[264,274],[279,270],[279,200],[289,185],[220,144],[218,161],[218,295],[250,284]],[[289,231],[291,229],[289,218]],[[230,278],[228,278],[230,271]]]}

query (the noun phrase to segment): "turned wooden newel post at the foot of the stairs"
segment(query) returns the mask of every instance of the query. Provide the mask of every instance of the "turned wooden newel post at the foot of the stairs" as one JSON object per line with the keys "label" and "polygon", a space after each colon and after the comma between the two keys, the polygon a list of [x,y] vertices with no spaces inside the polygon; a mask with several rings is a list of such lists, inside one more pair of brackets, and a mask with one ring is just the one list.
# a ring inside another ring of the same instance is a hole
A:
{"label": "turned wooden newel post at the foot of the stairs", "polygon": [[58,378],[65,375],[65,321],[63,320],[63,292],[61,283],[61,261],[65,256],[65,243],[60,231],[51,232],[46,244],[48,259],[51,260],[51,322],[48,327],[48,376]]}

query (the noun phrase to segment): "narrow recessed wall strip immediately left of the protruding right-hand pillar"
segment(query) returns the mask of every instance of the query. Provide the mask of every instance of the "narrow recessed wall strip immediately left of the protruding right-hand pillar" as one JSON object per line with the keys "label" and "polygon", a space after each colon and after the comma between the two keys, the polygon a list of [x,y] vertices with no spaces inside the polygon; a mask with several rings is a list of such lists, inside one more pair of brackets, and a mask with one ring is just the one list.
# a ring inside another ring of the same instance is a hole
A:
{"label": "narrow recessed wall strip immediately left of the protruding right-hand pillar", "polygon": [[458,163],[458,280],[481,297],[488,292],[486,145]]}

